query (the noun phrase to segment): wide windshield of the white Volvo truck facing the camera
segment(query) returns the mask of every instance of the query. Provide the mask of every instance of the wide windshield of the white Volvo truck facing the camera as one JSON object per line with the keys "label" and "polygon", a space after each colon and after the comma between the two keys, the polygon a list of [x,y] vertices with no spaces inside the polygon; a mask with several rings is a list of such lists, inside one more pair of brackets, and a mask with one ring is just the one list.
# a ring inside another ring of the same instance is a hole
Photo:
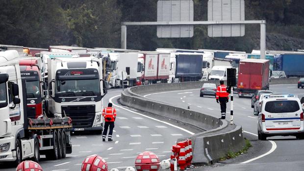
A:
{"label": "wide windshield of the white Volvo truck facing the camera", "polygon": [[57,80],[56,93],[100,93],[99,79]]}

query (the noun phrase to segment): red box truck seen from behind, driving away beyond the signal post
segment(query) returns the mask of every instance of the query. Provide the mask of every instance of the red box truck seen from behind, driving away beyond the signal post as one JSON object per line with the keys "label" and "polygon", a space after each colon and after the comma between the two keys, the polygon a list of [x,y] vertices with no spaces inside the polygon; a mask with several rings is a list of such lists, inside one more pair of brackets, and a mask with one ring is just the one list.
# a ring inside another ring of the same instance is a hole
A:
{"label": "red box truck seen from behind, driving away beyond the signal post", "polygon": [[269,90],[269,60],[241,60],[237,88],[239,97],[252,97],[256,90]]}

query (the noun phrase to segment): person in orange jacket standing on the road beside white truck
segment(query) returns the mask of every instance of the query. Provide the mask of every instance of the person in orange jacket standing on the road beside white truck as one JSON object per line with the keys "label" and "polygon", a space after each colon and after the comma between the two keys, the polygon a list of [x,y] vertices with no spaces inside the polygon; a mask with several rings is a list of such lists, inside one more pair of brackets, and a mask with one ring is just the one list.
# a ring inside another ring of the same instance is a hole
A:
{"label": "person in orange jacket standing on the road beside white truck", "polygon": [[108,107],[104,108],[102,111],[102,117],[104,118],[104,128],[102,133],[102,141],[105,141],[106,134],[108,132],[108,127],[110,127],[108,141],[113,141],[112,134],[114,129],[114,122],[116,118],[116,110],[112,107],[112,103],[108,104]]}

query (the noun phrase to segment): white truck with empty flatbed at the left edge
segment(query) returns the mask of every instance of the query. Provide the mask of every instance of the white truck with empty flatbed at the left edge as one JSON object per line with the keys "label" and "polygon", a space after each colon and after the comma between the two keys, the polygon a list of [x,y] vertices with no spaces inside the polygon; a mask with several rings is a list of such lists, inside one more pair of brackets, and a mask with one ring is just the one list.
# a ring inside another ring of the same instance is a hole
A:
{"label": "white truck with empty flatbed at the left edge", "polygon": [[26,81],[21,78],[18,52],[0,52],[0,162],[15,162],[40,154],[65,158],[72,153],[71,119],[27,119]]}

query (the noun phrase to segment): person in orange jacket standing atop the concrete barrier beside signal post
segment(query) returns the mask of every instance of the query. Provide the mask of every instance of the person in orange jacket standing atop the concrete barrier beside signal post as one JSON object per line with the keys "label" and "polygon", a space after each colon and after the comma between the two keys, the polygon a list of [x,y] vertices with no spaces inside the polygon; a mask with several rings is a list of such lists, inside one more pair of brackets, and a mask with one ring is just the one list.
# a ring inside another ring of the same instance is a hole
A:
{"label": "person in orange jacket standing atop the concrete barrier beside signal post", "polygon": [[220,101],[220,105],[221,105],[221,113],[222,113],[222,118],[225,120],[226,119],[226,103],[228,103],[228,99],[229,99],[229,93],[227,92],[227,86],[224,85],[224,81],[220,81],[220,84],[217,87],[216,90],[216,102],[219,103]]}

